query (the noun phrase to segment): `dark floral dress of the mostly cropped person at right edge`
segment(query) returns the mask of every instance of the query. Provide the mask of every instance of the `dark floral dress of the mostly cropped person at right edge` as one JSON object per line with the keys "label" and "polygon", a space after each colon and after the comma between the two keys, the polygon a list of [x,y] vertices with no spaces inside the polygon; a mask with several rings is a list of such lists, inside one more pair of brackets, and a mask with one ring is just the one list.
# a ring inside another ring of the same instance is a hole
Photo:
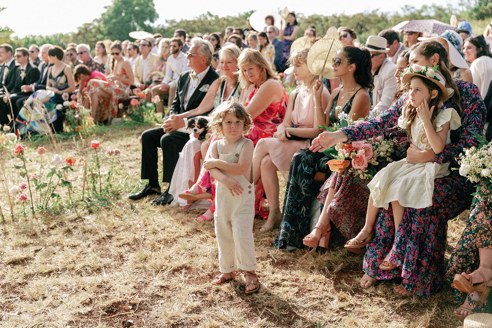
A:
{"label": "dark floral dress of the mostly cropped person at right edge", "polygon": [[[475,203],[470,209],[470,215],[466,222],[458,244],[449,259],[446,271],[446,280],[452,285],[455,274],[461,272],[471,273],[480,264],[478,256],[479,248],[492,249],[492,194],[484,184],[479,184],[477,190],[481,191],[482,197],[475,195]],[[473,294],[461,293],[453,288],[454,300],[457,305],[464,302],[468,297],[468,303],[473,312],[491,312],[492,294],[482,306],[471,302]]]}

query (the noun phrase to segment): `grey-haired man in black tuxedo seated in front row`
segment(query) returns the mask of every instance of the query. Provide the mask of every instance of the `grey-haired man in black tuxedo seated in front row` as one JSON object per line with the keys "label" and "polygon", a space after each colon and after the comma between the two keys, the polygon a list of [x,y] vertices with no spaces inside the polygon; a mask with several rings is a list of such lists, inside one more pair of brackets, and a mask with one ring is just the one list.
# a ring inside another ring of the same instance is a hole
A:
{"label": "grey-haired man in black tuxedo seated in front row", "polygon": [[[149,129],[142,133],[141,179],[148,179],[149,182],[139,192],[129,195],[130,199],[137,200],[147,195],[160,194],[157,173],[157,149],[159,147],[163,152],[162,182],[171,182],[179,153],[189,140],[189,134],[185,132],[187,118],[182,119],[177,115],[198,107],[212,82],[218,78],[217,73],[210,66],[213,52],[214,47],[210,42],[201,38],[191,40],[191,47],[186,55],[188,66],[192,70],[180,75],[176,96],[169,113],[170,117],[164,121],[161,127]],[[212,108],[210,109],[212,110]],[[172,200],[173,196],[166,190],[152,204],[166,205],[170,204]]]}

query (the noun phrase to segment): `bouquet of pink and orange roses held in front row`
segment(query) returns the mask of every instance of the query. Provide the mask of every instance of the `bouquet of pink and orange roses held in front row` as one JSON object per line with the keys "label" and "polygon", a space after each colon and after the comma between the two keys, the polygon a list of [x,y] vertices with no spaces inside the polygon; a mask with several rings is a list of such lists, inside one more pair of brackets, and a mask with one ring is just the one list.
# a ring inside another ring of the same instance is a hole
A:
{"label": "bouquet of pink and orange roses held in front row", "polygon": [[[341,108],[340,108],[341,109]],[[348,114],[338,114],[339,122],[334,127],[325,126],[327,130],[336,131],[340,127],[356,124],[364,119],[353,120]],[[380,161],[393,161],[393,143],[384,140],[384,136],[371,138],[369,140],[353,141],[348,144],[338,143],[334,148],[324,151],[331,154],[335,159],[329,160],[326,164],[330,170],[338,173],[350,173],[358,175],[361,179],[372,179],[376,174],[375,166]]]}

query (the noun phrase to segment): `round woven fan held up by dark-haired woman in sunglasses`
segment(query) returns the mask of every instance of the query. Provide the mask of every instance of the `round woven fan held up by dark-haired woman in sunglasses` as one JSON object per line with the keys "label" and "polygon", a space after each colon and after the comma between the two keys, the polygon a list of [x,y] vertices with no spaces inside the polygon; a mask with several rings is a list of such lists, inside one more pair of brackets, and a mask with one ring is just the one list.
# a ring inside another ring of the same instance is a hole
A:
{"label": "round woven fan held up by dark-haired woman in sunglasses", "polygon": [[327,37],[316,41],[307,53],[307,67],[314,75],[333,79],[332,61],[337,51],[342,48],[340,41],[334,37]]}

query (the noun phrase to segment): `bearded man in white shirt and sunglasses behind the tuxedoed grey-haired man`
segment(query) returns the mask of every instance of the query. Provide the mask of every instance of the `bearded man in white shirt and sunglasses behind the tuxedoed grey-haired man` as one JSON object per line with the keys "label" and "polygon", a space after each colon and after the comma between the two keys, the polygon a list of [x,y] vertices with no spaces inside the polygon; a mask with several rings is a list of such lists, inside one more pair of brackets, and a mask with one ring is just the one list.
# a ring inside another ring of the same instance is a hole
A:
{"label": "bearded man in white shirt and sunglasses behind the tuxedoed grey-haired man", "polygon": [[[181,42],[181,38],[173,37],[171,39],[171,54],[167,58],[166,64],[166,77],[162,81],[161,84],[156,85],[152,88],[152,97],[156,95],[169,94],[167,106],[171,107],[171,104],[174,100],[174,95],[176,94],[176,85],[178,83],[178,79],[183,73],[188,65],[188,60],[186,59],[186,55],[181,52],[183,48],[183,42]],[[157,113],[164,112],[164,105],[162,101],[155,103],[155,109]]]}

